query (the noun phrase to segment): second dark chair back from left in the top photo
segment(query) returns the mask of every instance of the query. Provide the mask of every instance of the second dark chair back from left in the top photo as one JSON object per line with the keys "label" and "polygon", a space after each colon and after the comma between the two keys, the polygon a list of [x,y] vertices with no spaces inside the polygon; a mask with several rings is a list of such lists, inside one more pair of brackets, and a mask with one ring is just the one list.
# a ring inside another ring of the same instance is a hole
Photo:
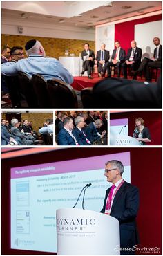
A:
{"label": "second dark chair back from left in the top photo", "polygon": [[19,72],[18,77],[20,82],[20,91],[25,96],[28,107],[37,108],[37,96],[33,89],[30,77],[23,72]]}

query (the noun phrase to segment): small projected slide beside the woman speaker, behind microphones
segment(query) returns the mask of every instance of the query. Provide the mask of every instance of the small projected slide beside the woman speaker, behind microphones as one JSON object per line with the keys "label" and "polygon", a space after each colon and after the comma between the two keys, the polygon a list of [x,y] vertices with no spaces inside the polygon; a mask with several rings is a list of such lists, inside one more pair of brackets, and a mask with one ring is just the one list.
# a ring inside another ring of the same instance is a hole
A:
{"label": "small projected slide beside the woman speaker, behind microphones", "polygon": [[110,133],[114,136],[128,136],[128,118],[110,120]]}

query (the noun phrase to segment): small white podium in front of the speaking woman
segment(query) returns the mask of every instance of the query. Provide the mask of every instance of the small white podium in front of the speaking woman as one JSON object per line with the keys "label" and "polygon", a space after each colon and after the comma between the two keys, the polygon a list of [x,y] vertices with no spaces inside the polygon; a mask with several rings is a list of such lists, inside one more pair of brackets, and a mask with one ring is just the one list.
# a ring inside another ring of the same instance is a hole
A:
{"label": "small white podium in front of the speaking woman", "polygon": [[117,146],[131,146],[131,145],[139,145],[139,141],[131,136],[111,136],[110,137],[110,145]]}

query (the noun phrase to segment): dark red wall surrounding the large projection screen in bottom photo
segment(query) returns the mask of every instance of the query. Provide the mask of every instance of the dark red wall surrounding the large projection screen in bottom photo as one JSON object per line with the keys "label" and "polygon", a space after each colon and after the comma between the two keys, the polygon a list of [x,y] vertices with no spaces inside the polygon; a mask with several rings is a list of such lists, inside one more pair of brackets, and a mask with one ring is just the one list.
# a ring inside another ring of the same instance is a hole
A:
{"label": "dark red wall surrounding the large projection screen in bottom photo", "polygon": [[[140,189],[137,226],[140,247],[162,247],[162,149],[74,148],[2,160],[1,165],[1,254],[54,254],[10,249],[10,168],[73,158],[131,152],[131,183]],[[39,232],[39,230],[38,230]],[[160,252],[161,253],[161,252]],[[159,253],[159,254],[160,254]],[[142,253],[140,253],[142,254]],[[145,253],[143,253],[145,255]],[[150,253],[146,253],[150,254]],[[152,253],[153,254],[153,253]]]}

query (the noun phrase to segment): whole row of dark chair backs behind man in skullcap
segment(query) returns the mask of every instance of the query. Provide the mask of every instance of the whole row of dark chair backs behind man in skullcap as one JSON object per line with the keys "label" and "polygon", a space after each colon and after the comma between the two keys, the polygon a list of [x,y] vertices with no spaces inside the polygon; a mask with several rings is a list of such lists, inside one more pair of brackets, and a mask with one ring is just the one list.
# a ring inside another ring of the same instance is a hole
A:
{"label": "whole row of dark chair backs behind man in skullcap", "polygon": [[22,95],[29,108],[70,108],[78,107],[77,95],[70,84],[52,79],[47,82],[38,74],[28,77],[19,72],[15,77],[5,77],[12,107],[22,107]]}

